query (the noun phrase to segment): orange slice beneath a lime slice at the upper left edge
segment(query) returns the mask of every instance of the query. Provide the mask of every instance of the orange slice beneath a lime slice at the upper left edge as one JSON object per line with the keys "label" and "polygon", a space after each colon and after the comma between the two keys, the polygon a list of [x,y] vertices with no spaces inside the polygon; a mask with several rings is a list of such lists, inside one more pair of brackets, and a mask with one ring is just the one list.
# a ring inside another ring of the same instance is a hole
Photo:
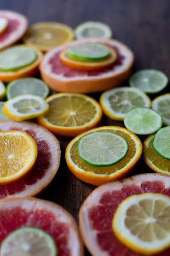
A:
{"label": "orange slice beneath a lime slice at the upper left edge", "polygon": [[[22,78],[22,77],[27,77],[27,76],[34,76],[37,74],[38,72],[38,69],[39,69],[39,64],[42,60],[42,53],[35,49],[34,47],[28,47],[26,45],[17,45],[17,46],[13,46],[11,48],[8,48],[8,49],[17,49],[17,48],[20,48],[20,47],[24,47],[24,48],[27,48],[28,50],[31,49],[33,50],[37,57],[35,59],[35,61],[33,61],[32,64],[29,64],[28,66],[26,67],[22,67],[18,70],[12,70],[12,71],[2,71],[0,70],[0,80],[4,81],[4,82],[10,82],[10,81],[13,81],[13,80],[16,80],[16,79],[19,79],[19,78]],[[10,64],[10,61],[9,61],[9,64]]]}

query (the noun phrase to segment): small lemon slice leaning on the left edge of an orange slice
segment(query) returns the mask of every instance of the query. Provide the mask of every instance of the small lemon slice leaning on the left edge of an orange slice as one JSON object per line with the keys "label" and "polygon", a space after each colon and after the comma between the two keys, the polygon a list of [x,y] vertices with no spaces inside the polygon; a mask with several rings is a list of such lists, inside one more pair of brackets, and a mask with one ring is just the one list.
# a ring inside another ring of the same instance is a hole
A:
{"label": "small lemon slice leaning on the left edge of an orange slice", "polygon": [[40,116],[49,110],[49,105],[39,96],[25,94],[9,99],[3,105],[3,113],[10,119],[23,121]]}

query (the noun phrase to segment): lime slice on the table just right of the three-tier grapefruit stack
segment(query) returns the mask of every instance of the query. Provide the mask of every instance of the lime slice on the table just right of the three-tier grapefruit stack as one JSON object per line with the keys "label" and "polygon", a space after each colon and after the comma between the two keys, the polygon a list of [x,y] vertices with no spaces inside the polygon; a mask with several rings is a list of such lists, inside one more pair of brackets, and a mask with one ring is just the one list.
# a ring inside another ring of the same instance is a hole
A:
{"label": "lime slice on the table just right of the three-tier grapefruit stack", "polygon": [[141,70],[134,73],[129,80],[131,87],[137,87],[145,93],[159,93],[168,84],[168,78],[158,70]]}

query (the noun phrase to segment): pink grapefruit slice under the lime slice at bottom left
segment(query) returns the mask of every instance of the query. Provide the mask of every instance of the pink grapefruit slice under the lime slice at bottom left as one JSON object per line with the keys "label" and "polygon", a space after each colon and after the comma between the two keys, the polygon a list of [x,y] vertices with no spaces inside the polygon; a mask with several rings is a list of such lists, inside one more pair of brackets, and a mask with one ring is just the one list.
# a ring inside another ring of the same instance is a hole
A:
{"label": "pink grapefruit slice under the lime slice at bottom left", "polygon": [[76,221],[69,212],[57,204],[29,197],[2,200],[0,243],[9,233],[22,227],[41,228],[51,235],[57,244],[57,256],[84,255]]}

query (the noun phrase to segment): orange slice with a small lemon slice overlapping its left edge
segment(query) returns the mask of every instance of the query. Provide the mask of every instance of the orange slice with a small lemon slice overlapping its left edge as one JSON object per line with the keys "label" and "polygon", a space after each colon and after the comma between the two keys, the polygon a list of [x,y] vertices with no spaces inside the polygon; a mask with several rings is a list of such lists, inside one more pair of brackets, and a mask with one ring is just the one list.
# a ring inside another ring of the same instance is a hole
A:
{"label": "orange slice with a small lemon slice overlapping its left edge", "polygon": [[37,121],[56,135],[75,137],[102,121],[102,108],[89,96],[57,93],[49,96],[46,102],[50,110]]}

